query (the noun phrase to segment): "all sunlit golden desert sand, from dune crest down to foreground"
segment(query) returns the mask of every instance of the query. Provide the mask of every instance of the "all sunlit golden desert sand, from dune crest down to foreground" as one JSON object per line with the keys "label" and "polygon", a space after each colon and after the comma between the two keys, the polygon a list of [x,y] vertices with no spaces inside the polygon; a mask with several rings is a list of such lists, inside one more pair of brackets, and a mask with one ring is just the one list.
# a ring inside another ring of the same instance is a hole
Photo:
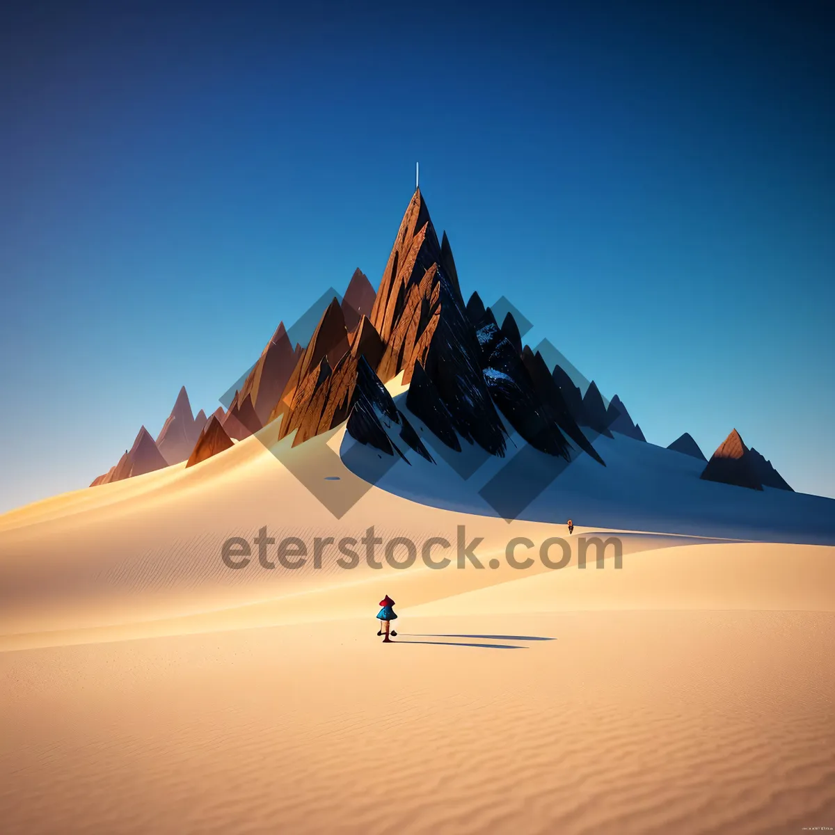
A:
{"label": "all sunlit golden desert sand, from dune crest down to foreground", "polygon": [[[342,431],[280,463],[271,424],[0,517],[3,832],[835,827],[835,548],[577,521],[572,543],[621,537],[622,569],[574,549],[514,569],[509,539],[564,525],[376,487],[336,519],[287,466],[352,488]],[[417,543],[464,525],[499,567],[220,559],[264,526],[370,525]]]}

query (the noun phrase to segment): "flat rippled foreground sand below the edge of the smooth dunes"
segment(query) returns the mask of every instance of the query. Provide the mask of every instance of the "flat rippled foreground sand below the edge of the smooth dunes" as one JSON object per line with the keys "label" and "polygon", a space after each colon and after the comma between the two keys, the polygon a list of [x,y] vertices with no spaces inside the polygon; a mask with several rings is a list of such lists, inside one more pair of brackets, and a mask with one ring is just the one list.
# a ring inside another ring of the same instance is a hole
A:
{"label": "flat rippled foreground sand below the edge of the smooth dunes", "polygon": [[835,615],[372,620],[0,654],[3,832],[835,827]]}

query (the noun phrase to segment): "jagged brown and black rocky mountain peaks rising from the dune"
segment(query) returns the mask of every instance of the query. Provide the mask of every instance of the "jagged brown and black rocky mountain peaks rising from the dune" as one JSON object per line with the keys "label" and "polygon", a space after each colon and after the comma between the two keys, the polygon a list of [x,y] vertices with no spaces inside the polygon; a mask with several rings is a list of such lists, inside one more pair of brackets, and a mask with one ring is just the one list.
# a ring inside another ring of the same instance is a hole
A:
{"label": "jagged brown and black rocky mountain peaks rising from the dune", "polygon": [[[620,397],[607,406],[594,381],[582,392],[559,364],[549,367],[524,344],[512,313],[499,324],[478,293],[463,300],[447,234],[438,240],[415,190],[377,291],[354,271],[342,300],[334,297],[326,306],[304,346],[293,346],[280,323],[229,407],[208,419],[202,411],[193,417],[182,388],[156,441],[142,428],[94,485],[182,462],[194,466],[279,418],[279,437],[295,433],[293,445],[347,422],[347,432],[361,443],[405,460],[409,448],[433,461],[384,385],[399,374],[409,386],[407,411],[433,443],[453,451],[476,444],[504,456],[515,432],[546,455],[588,454],[605,466],[592,445],[598,435],[645,443]],[[394,427],[396,442],[389,434]],[[704,458],[686,433],[670,448]],[[701,478],[791,489],[736,430]]]}

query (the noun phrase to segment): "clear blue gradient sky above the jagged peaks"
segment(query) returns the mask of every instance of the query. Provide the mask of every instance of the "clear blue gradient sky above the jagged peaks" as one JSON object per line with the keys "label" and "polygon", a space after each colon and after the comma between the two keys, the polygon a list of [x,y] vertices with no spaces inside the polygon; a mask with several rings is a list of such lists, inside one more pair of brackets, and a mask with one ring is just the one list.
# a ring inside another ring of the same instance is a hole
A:
{"label": "clear blue gradient sky above the jagged peaks", "polygon": [[0,511],[377,286],[416,159],[465,296],[835,496],[832,3],[770,5],[3,3]]}

